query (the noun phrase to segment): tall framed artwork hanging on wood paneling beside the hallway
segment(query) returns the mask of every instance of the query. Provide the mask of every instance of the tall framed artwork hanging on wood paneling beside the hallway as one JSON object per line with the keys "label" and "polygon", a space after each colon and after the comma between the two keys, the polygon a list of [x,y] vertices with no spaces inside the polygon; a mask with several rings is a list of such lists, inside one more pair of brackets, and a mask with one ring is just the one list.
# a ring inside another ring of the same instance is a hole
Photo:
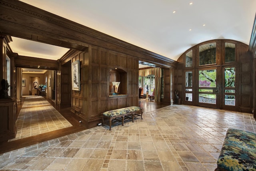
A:
{"label": "tall framed artwork hanging on wood paneling beside the hallway", "polygon": [[72,90],[80,91],[80,62],[71,63]]}

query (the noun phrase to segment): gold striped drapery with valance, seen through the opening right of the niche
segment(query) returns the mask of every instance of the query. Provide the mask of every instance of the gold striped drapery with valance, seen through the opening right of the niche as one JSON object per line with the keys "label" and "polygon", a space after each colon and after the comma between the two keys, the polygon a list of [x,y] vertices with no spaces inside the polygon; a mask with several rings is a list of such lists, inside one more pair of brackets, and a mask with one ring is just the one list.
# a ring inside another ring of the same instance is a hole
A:
{"label": "gold striped drapery with valance, seen through the opening right of the niche", "polygon": [[155,101],[160,101],[161,98],[161,77],[162,72],[160,68],[149,68],[139,70],[139,76],[145,77],[148,75],[155,76]]}

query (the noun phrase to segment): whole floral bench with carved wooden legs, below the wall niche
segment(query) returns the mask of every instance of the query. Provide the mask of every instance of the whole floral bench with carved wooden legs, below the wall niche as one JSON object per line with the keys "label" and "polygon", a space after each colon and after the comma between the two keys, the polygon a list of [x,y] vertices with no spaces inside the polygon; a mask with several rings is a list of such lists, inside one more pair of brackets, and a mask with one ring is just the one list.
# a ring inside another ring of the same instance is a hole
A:
{"label": "whole floral bench with carved wooden legs, below the wall niche", "polygon": [[116,117],[122,117],[122,126],[124,126],[124,117],[127,115],[132,115],[132,122],[134,122],[134,115],[138,115],[142,119],[142,108],[138,106],[124,107],[121,109],[114,109],[110,111],[105,111],[102,113],[102,122],[104,125],[104,117],[109,118],[109,130],[111,131],[112,119]]}

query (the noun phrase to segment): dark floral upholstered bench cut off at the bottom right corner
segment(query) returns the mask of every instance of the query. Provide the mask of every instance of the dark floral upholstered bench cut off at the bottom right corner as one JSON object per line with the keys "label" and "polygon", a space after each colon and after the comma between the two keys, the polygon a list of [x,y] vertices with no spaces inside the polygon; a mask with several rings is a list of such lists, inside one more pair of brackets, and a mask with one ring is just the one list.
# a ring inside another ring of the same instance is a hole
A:
{"label": "dark floral upholstered bench cut off at the bottom right corner", "polygon": [[256,171],[256,134],[228,129],[215,171]]}

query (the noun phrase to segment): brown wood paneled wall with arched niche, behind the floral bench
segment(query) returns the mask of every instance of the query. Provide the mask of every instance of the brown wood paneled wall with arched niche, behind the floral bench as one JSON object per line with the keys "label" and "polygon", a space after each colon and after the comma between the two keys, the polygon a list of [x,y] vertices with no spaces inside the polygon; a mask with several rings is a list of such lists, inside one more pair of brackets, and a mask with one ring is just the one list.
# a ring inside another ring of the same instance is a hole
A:
{"label": "brown wood paneled wall with arched niche, behind the floral bench", "polygon": [[[67,59],[71,62],[80,61],[81,91],[70,91],[71,106],[72,112],[83,117],[88,127],[95,127],[96,123],[101,122],[101,113],[104,111],[138,105],[137,58],[105,48],[89,46],[87,50],[77,51],[65,58],[66,61]],[[71,65],[71,62],[61,67]],[[65,74],[64,70],[71,72],[70,69],[63,68],[61,75]],[[121,82],[118,90],[124,95],[111,95],[112,81]],[[65,80],[61,80],[61,84],[62,82]],[[63,88],[61,89],[63,92]]]}

